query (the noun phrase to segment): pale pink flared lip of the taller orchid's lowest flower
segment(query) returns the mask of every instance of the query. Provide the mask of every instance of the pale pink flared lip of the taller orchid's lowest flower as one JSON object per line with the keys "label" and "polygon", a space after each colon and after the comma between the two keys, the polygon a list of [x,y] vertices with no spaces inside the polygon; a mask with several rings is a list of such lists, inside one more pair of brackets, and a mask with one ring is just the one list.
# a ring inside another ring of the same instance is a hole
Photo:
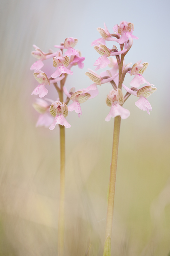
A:
{"label": "pale pink flared lip of the taller orchid's lowest flower", "polygon": [[111,106],[109,114],[106,116],[105,121],[108,122],[111,120],[111,117],[121,116],[122,119],[126,119],[130,116],[128,109],[124,109],[122,106],[117,103],[116,105]]}

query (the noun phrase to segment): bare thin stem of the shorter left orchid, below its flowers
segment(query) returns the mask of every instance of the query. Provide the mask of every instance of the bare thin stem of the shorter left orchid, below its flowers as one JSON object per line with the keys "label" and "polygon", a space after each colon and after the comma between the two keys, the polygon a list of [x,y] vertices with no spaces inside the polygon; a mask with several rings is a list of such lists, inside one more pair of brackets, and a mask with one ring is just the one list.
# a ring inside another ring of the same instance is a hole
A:
{"label": "bare thin stem of the shorter left orchid, below its flowers", "polygon": [[58,256],[64,255],[64,194],[65,194],[65,127],[60,126],[60,205],[58,217]]}

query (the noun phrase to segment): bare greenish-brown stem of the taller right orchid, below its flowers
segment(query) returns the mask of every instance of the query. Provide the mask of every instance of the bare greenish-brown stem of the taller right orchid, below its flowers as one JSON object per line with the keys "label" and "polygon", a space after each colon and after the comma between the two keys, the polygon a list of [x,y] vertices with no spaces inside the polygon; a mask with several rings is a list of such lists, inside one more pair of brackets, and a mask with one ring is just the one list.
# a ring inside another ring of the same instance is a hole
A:
{"label": "bare greenish-brown stem of the taller right orchid, below its flowers", "polygon": [[[111,234],[112,234],[120,121],[121,121],[121,117],[116,116],[115,123],[114,123],[114,132],[113,132],[112,162],[111,162],[111,170],[110,170],[108,204],[107,204],[107,221],[106,221],[106,234],[105,234],[105,239],[107,244],[105,242],[105,247],[106,245],[108,246],[107,240],[108,240],[108,237],[111,237]],[[103,254],[103,256],[105,256],[105,253]]]}

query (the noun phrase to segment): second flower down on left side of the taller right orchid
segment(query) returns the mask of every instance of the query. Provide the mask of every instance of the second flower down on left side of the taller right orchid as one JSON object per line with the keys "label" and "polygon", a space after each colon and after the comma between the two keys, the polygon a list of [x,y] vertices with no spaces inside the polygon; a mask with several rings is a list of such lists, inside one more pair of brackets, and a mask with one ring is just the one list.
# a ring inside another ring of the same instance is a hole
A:
{"label": "second flower down on left side of the taller right orchid", "polygon": [[94,63],[93,66],[97,66],[95,68],[95,70],[98,70],[100,68],[105,68],[107,67],[108,64],[111,63],[111,61],[109,59],[107,59],[107,57],[109,56],[115,56],[115,55],[119,55],[119,54],[123,54],[127,51],[127,49],[124,49],[122,51],[119,51],[118,52],[118,49],[117,47],[114,45],[113,48],[110,50],[107,48],[106,45],[104,44],[100,44],[99,46],[95,46],[94,47],[95,50],[100,54],[102,55],[101,57],[99,57],[96,62]]}

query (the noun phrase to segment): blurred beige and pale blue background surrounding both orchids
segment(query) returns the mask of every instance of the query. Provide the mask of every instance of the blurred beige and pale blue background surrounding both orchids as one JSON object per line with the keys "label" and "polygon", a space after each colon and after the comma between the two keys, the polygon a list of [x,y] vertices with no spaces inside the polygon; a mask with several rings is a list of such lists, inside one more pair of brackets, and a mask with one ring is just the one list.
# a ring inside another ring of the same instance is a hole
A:
{"label": "blurred beige and pale blue background surrounding both orchids", "polygon": [[[134,105],[135,97],[124,104],[131,115],[121,121],[112,255],[168,255],[169,9],[167,0],[1,0],[0,255],[57,255],[59,128],[35,128],[32,45],[47,52],[67,37],[78,38],[75,48],[86,57],[85,66],[72,68],[66,87],[86,88],[91,81],[84,73],[94,70],[99,57],[90,47],[101,37],[96,28],[105,22],[112,33],[122,20],[134,23],[139,38],[125,62],[148,62],[143,76],[158,90],[149,98],[151,115]],[[126,86],[131,79],[128,74]],[[89,245],[90,256],[103,255],[114,125],[113,118],[104,120],[110,110],[105,98],[111,88],[102,85],[98,97],[82,104],[80,118],[75,112],[67,118],[72,126],[66,129],[67,256],[84,256]],[[48,98],[56,97],[51,88]]]}

